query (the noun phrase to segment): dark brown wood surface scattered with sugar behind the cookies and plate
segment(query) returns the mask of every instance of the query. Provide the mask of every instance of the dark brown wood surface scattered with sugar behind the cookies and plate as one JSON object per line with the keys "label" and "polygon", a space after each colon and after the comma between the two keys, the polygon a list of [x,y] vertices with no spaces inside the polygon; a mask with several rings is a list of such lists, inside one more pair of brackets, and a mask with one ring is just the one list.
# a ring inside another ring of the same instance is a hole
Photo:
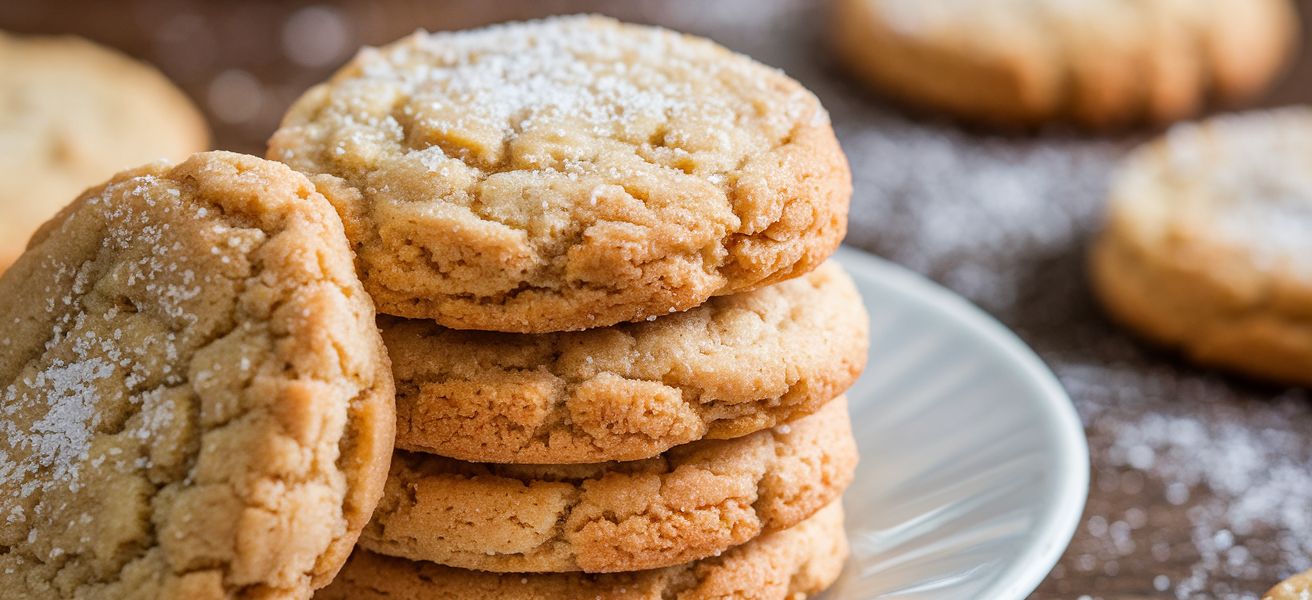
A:
{"label": "dark brown wood surface scattered with sugar behind the cookies and plate", "polygon": [[[1148,348],[1089,295],[1084,248],[1107,173],[1155,131],[1056,126],[1002,135],[908,117],[833,68],[823,11],[800,0],[8,0],[0,29],[80,34],[152,62],[206,110],[215,147],[251,154],[262,154],[287,104],[357,46],[417,28],[601,12],[715,38],[785,68],[830,109],[855,180],[848,242],[991,311],[1075,399],[1093,457],[1089,503],[1033,597],[1256,599],[1312,567],[1305,390],[1236,379]],[[1257,104],[1308,100],[1312,55],[1303,53]]]}

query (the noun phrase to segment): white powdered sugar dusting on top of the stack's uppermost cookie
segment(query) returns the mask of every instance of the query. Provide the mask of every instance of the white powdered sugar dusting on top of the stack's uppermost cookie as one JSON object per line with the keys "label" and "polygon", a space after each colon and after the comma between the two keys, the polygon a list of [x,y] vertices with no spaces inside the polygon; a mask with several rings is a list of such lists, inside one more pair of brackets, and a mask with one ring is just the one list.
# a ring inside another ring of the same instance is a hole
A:
{"label": "white powdered sugar dusting on top of the stack's uppermost cookie", "polygon": [[[411,43],[366,50],[362,71],[396,81],[411,96],[407,117],[430,130],[496,131],[504,139],[562,123],[625,137],[632,123],[682,117],[714,135],[739,125],[732,102],[741,101],[716,92],[771,85],[764,79],[769,68],[731,60],[705,42],[585,16],[417,34]],[[771,127],[828,118],[803,91],[782,102],[765,113]]]}

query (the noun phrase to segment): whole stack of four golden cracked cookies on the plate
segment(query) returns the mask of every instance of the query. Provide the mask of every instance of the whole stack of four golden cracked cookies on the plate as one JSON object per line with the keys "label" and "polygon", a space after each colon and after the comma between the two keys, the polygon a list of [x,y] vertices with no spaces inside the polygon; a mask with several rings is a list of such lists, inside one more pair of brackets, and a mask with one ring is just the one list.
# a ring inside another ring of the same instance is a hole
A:
{"label": "whole stack of four golden cracked cookies on the plate", "polygon": [[837,578],[866,315],[824,263],[846,160],[796,81],[600,17],[420,33],[307,92],[269,158],[341,215],[398,386],[383,498],[320,597]]}

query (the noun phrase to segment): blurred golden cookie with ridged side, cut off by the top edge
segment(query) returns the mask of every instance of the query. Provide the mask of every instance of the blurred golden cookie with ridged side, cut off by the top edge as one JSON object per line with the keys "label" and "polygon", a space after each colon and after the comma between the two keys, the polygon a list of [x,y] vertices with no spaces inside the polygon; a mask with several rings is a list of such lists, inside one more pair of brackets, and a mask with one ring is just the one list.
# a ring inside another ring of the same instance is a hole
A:
{"label": "blurred golden cookie with ridged side, cut off by the top edge", "polygon": [[912,105],[1004,126],[1169,122],[1260,93],[1290,0],[837,0],[840,62]]}

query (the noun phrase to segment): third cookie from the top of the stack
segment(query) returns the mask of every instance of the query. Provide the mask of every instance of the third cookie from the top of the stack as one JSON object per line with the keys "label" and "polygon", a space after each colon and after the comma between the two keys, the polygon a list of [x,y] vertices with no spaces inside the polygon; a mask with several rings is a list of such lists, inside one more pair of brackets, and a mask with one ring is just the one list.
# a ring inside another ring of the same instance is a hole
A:
{"label": "third cookie from the top of the stack", "polygon": [[398,452],[359,545],[499,572],[639,571],[787,529],[848,487],[848,402],[736,440],[598,465],[488,465]]}

